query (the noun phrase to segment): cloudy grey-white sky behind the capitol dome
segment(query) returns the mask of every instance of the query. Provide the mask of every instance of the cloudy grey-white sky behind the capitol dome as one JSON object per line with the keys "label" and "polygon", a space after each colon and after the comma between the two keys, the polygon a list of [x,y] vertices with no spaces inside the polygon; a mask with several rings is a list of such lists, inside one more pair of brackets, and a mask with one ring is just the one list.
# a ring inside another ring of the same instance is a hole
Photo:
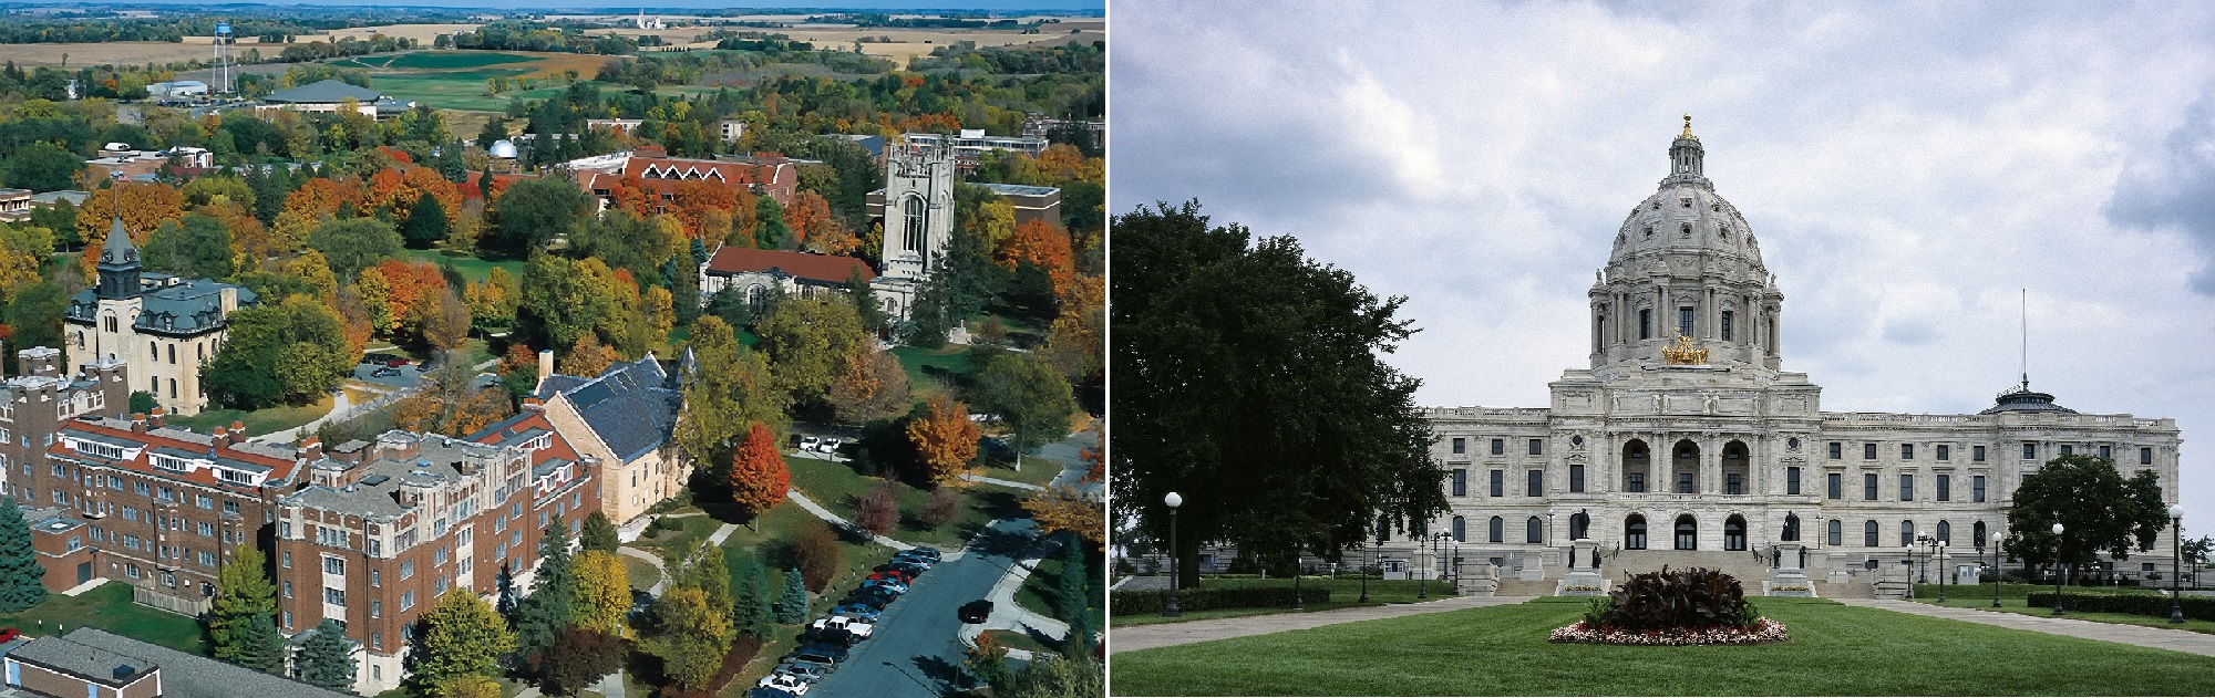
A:
{"label": "cloudy grey-white sky behind the capitol dome", "polygon": [[[1291,234],[1422,331],[1438,406],[1544,406],[1692,113],[1827,411],[2020,373],[2177,417],[2215,517],[2215,4],[1110,4],[1110,205]],[[2186,528],[2191,526],[2186,519]],[[2215,524],[2197,528],[2215,532]]]}

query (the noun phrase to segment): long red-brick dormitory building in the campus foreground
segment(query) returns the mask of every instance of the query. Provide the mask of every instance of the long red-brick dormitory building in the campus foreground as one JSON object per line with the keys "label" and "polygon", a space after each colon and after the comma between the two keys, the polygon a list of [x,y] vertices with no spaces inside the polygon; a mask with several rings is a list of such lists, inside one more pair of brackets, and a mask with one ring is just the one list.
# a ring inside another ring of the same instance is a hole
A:
{"label": "long red-brick dormitory building in the campus foreground", "polygon": [[560,521],[574,537],[600,508],[600,459],[536,400],[467,440],[390,431],[326,451],[248,442],[237,422],[177,429],[159,409],[115,417],[120,362],[62,376],[55,349],[18,356],[24,376],[0,387],[0,466],[49,590],[117,579],[137,603],[202,614],[253,543],[275,572],[277,625],[341,621],[363,696],[399,685],[408,627],[439,594],[492,594],[503,568],[527,588],[540,530]]}

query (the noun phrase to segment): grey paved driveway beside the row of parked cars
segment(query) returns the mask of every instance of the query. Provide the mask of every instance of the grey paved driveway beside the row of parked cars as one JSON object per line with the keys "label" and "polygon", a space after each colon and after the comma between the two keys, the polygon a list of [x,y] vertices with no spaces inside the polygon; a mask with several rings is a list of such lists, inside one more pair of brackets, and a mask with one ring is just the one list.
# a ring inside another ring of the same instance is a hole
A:
{"label": "grey paved driveway beside the row of parked cars", "polygon": [[915,588],[893,601],[879,618],[875,636],[853,647],[853,654],[808,696],[950,696],[961,676],[961,618],[955,612],[992,592],[1014,557],[1032,543],[1032,521],[1010,519],[970,541],[968,554],[946,561]]}

